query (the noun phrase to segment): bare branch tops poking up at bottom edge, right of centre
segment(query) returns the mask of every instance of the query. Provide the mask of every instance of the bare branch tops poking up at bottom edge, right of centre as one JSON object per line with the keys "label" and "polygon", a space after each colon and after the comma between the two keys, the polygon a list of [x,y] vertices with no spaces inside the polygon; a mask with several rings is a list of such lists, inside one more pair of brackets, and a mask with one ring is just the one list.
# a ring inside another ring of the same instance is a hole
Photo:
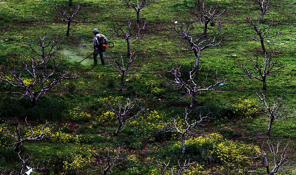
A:
{"label": "bare branch tops poking up at bottom edge, right of centre", "polygon": [[[165,161],[159,163],[157,160],[155,160],[156,163],[150,162],[151,164],[155,165],[157,168],[157,171],[161,174],[161,175],[182,175],[182,174],[186,174],[187,169],[190,168],[190,166],[194,165],[196,162],[192,162],[190,163],[190,159],[185,160],[184,163],[180,164],[180,161],[178,160],[177,162],[177,169],[176,168],[169,168],[169,164],[170,161],[168,161],[168,163],[165,163]],[[169,171],[169,173],[167,173],[167,171]]]}

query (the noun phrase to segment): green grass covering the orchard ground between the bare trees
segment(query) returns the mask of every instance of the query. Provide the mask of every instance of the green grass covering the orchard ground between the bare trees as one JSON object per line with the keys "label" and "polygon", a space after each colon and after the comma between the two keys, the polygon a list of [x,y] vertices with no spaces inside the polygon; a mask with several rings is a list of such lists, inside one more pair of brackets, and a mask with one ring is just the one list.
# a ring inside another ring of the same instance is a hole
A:
{"label": "green grass covering the orchard ground between the bare trees", "polygon": [[[63,133],[69,133],[73,136],[81,134],[84,140],[80,143],[76,143],[75,140],[69,143],[59,143],[50,140],[38,143],[25,143],[28,154],[32,152],[34,155],[34,161],[51,169],[49,174],[89,174],[87,171],[95,169],[94,163],[87,162],[83,165],[83,169],[80,170],[74,166],[69,168],[69,170],[65,170],[60,165],[63,164],[63,161],[72,163],[75,156],[78,155],[88,157],[89,149],[92,149],[93,146],[102,147],[103,145],[110,144],[117,146],[117,144],[121,145],[124,143],[125,151],[135,154],[138,161],[116,165],[112,168],[113,174],[150,175],[151,170],[155,169],[155,167],[148,163],[147,158],[157,156],[158,153],[165,157],[172,145],[176,144],[180,139],[174,135],[161,137],[156,134],[157,130],[139,131],[137,128],[141,128],[139,125],[143,124],[141,124],[142,121],[139,119],[136,120],[136,124],[127,124],[118,137],[113,137],[112,134],[115,132],[117,122],[110,118],[105,121],[102,120],[102,114],[107,112],[108,108],[98,99],[108,96],[133,98],[136,94],[138,96],[141,94],[149,109],[143,115],[147,115],[155,110],[158,113],[163,113],[164,120],[168,120],[170,116],[181,115],[184,112],[184,106],[188,106],[191,98],[181,98],[184,97],[184,94],[174,91],[172,86],[164,84],[164,79],[160,75],[165,75],[165,71],[169,70],[172,65],[193,65],[195,62],[194,53],[187,49],[187,42],[184,40],[174,40],[171,38],[171,35],[177,34],[169,30],[169,27],[173,26],[175,21],[178,21],[179,24],[180,22],[190,21],[190,9],[194,8],[192,2],[192,0],[151,1],[148,8],[141,10],[141,20],[149,22],[146,31],[159,31],[152,32],[148,38],[132,45],[132,48],[139,51],[135,61],[139,66],[136,67],[136,71],[132,71],[126,76],[125,79],[130,78],[129,81],[124,82],[123,88],[126,91],[119,92],[116,88],[119,88],[120,76],[110,66],[99,65],[93,67],[92,56],[90,57],[91,59],[86,59],[82,63],[78,62],[93,52],[92,40],[94,35],[92,31],[94,28],[97,28],[100,33],[106,35],[108,40],[115,44],[114,48],[107,49],[105,53],[106,58],[110,56],[118,58],[118,52],[126,54],[126,42],[121,38],[115,37],[110,32],[113,25],[115,25],[115,18],[118,21],[124,21],[129,17],[135,22],[135,12],[132,9],[126,8],[122,1],[73,0],[73,6],[77,3],[83,3],[83,9],[78,14],[78,17],[81,20],[84,19],[85,23],[71,24],[70,36],[66,37],[67,26],[56,18],[56,12],[51,6],[55,4],[63,6],[68,1],[3,0],[0,3],[0,29],[2,26],[7,25],[11,26],[11,28],[3,36],[0,36],[1,64],[6,64],[7,58],[10,57],[17,59],[19,55],[36,57],[30,48],[22,43],[32,41],[34,34],[42,35],[46,31],[48,38],[56,35],[60,37],[60,44],[63,48],[60,53],[60,57],[63,60],[63,66],[60,68],[61,71],[70,68],[70,70],[81,71],[81,73],[77,80],[67,81],[67,83],[72,83],[72,89],[70,89],[70,86],[59,86],[57,89],[51,89],[46,93],[47,96],[44,95],[42,97],[34,109],[30,109],[28,99],[24,98],[20,101],[8,100],[9,97],[14,97],[14,95],[2,92],[9,91],[12,88],[7,84],[1,83],[0,124],[12,127],[8,121],[14,118],[23,120],[25,117],[36,125],[43,123],[46,119],[54,120],[56,123],[55,130],[61,129],[65,123],[73,124],[69,130],[65,128],[61,130]],[[215,2],[210,1],[212,4],[215,4]],[[252,8],[251,6],[245,5],[242,0],[225,0],[223,2],[224,7],[230,8],[227,11],[226,19],[244,22],[244,16],[251,16],[252,19],[255,19],[256,15],[259,14],[259,12],[250,9]],[[275,18],[276,20],[295,21],[295,4],[296,1],[282,1],[279,9],[267,12],[266,19],[271,20]],[[261,82],[248,78],[234,61],[234,58],[240,59],[247,64],[246,55],[252,55],[254,51],[261,51],[260,43],[247,40],[242,35],[242,33],[252,35],[254,32],[250,26],[244,23],[224,21],[222,26],[221,34],[232,34],[234,36],[224,42],[221,47],[207,48],[202,51],[200,57],[202,69],[199,76],[201,79],[204,79],[206,75],[211,77],[218,70],[219,76],[226,76],[231,81],[229,81],[229,85],[223,86],[219,91],[202,92],[199,94],[196,98],[196,103],[201,106],[237,104],[238,98],[253,100],[256,99],[255,92],[262,87]],[[194,26],[193,32],[196,34],[196,37],[202,32],[202,27],[202,24]],[[209,27],[209,37],[213,36],[212,30],[217,31],[217,24]],[[287,22],[271,27],[269,35],[278,31],[284,32],[284,35],[269,39],[270,44],[266,45],[268,49],[275,47],[277,50],[281,50],[282,54],[277,57],[278,63],[276,66],[287,66],[287,68],[267,77],[268,90],[266,97],[268,99],[276,99],[282,96],[283,101],[287,103],[289,114],[295,114],[296,111],[294,105],[296,102],[294,73],[296,70],[295,30],[296,25],[294,23],[289,25]],[[161,89],[161,92],[151,92],[151,87],[149,89],[146,84],[150,80],[155,81],[152,89],[157,87]],[[260,102],[256,103],[258,106],[260,104]],[[67,118],[68,111],[75,107],[79,107],[83,112],[90,114],[91,119],[73,121]],[[36,113],[38,115],[34,115]],[[258,114],[251,119],[246,119],[243,116],[236,116],[236,118],[224,117],[227,116],[221,116],[216,121],[211,121],[208,127],[197,127],[196,135],[194,136],[218,132],[218,125],[225,124],[233,127],[235,132],[239,133],[238,135],[245,138],[243,139],[245,143],[259,145],[265,140],[262,138],[267,138],[268,120],[263,115]],[[96,122],[96,124],[93,122]],[[296,129],[295,122],[295,118],[289,119],[288,122],[275,121],[272,126],[271,137],[296,137],[294,132]],[[284,141],[287,142],[287,139]],[[291,148],[296,148],[294,138],[291,139],[290,145]],[[6,155],[0,157],[0,172],[8,166],[12,166],[12,169],[19,167],[20,161],[14,157],[11,145],[0,147],[0,151],[3,155]],[[176,161],[177,158],[178,156],[176,155],[172,157],[174,159],[172,162]],[[203,162],[203,160],[198,161]],[[204,164],[211,167],[207,163]],[[256,171],[259,174],[263,174],[264,170],[256,169]]]}

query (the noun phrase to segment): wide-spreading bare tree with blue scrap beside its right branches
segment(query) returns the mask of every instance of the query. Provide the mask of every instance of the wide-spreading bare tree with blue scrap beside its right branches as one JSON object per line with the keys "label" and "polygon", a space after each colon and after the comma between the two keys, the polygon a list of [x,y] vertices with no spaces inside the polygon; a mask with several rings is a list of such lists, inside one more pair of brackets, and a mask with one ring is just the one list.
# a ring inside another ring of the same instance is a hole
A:
{"label": "wide-spreading bare tree with blue scrap beside its right branches", "polygon": [[[199,78],[195,77],[196,72],[200,69],[193,68],[192,71],[189,72],[189,78],[184,79],[184,76],[180,72],[180,68],[181,66],[176,66],[168,71],[173,75],[173,79],[170,79],[168,77],[163,78],[165,78],[165,80],[167,81],[165,82],[166,84],[176,86],[175,90],[184,89],[184,91],[181,92],[186,92],[186,95],[192,96],[190,108],[194,107],[194,101],[198,92],[216,90],[220,87],[221,83],[224,83],[228,80],[224,76],[218,77],[218,73],[216,71],[213,81],[210,84],[206,85],[207,78],[205,78],[204,81],[200,81]],[[196,79],[198,79],[198,82],[196,81]]]}

